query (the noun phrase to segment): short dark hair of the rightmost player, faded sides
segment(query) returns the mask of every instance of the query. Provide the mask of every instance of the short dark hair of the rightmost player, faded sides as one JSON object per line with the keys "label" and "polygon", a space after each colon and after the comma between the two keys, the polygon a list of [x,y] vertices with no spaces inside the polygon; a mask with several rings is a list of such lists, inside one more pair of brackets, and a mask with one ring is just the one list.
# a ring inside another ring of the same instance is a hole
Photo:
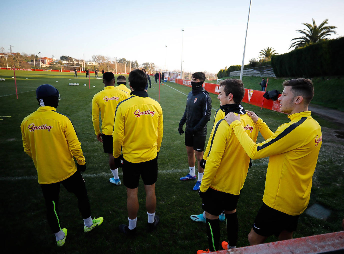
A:
{"label": "short dark hair of the rightmost player, faded sides", "polygon": [[309,104],[314,96],[313,82],[309,79],[291,79],[283,82],[283,87],[291,86],[295,96],[302,96],[306,104]]}

